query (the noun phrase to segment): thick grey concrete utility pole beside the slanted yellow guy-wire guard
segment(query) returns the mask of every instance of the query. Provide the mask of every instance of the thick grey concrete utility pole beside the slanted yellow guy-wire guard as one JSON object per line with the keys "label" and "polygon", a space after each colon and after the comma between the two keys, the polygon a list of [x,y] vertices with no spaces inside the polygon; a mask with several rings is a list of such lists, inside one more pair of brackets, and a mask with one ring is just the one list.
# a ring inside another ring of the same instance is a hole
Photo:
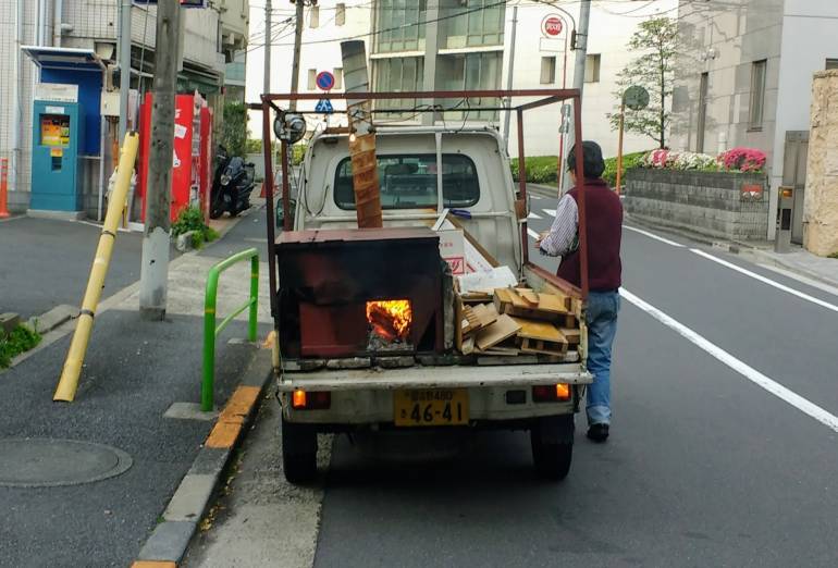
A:
{"label": "thick grey concrete utility pole beside the slanted yellow guy-wire guard", "polygon": [[[148,200],[143,235],[139,281],[139,316],[144,320],[165,318],[169,284],[172,158],[174,156],[174,107],[177,82],[177,42],[181,17],[178,0],[157,4],[155,51],[155,102],[151,109],[151,149],[148,160]],[[182,157],[188,160],[188,156]]]}

